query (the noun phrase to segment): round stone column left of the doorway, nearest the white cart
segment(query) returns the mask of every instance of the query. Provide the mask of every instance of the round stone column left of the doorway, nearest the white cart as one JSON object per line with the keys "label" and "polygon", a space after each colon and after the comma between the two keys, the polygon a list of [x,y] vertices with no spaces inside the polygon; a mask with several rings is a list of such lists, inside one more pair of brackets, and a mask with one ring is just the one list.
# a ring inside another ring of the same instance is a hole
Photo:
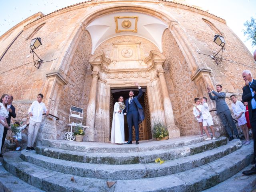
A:
{"label": "round stone column left of the doorway, nearest the white cart", "polygon": [[87,107],[87,116],[86,116],[86,128],[85,130],[85,140],[94,141],[94,124],[95,124],[95,110],[96,110],[96,92],[97,92],[97,83],[99,78],[99,72],[92,72],[92,84],[90,87],[90,94]]}

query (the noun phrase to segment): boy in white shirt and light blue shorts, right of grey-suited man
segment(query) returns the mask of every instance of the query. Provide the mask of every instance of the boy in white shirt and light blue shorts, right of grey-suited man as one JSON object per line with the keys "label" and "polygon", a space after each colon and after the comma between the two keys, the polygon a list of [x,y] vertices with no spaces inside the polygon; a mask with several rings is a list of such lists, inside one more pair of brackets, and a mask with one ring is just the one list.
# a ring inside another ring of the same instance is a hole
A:
{"label": "boy in white shirt and light blue shorts, right of grey-suited man", "polygon": [[248,145],[251,142],[249,140],[249,130],[246,125],[247,124],[246,117],[245,117],[246,106],[244,106],[244,104],[241,101],[238,101],[235,95],[231,95],[230,98],[231,98],[231,101],[233,102],[231,106],[236,116],[236,119],[238,121],[238,126],[241,126],[244,132],[245,141],[242,142],[242,144]]}

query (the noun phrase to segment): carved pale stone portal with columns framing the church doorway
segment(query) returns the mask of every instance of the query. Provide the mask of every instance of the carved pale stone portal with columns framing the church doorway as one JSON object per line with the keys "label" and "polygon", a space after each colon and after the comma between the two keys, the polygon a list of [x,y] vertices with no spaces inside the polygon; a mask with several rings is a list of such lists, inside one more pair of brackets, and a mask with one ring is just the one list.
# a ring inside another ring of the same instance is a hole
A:
{"label": "carved pale stone portal with columns framing the church doorway", "polygon": [[[136,45],[134,46],[136,48]],[[122,54],[123,50],[120,49],[119,54]],[[111,69],[112,62],[105,57],[104,53],[92,56],[90,59],[92,84],[86,118],[86,125],[90,128],[86,129],[85,139],[101,142],[109,140],[110,90],[127,87],[136,89],[133,82],[138,82],[140,86],[148,90],[151,124],[153,124],[153,119],[159,119],[168,126],[170,137],[179,137],[180,130],[174,124],[172,104],[162,68],[164,61],[165,57],[161,53],[150,51],[150,55],[144,59],[143,64],[139,64],[140,68],[134,66],[133,68],[118,68],[115,64],[116,67]]]}

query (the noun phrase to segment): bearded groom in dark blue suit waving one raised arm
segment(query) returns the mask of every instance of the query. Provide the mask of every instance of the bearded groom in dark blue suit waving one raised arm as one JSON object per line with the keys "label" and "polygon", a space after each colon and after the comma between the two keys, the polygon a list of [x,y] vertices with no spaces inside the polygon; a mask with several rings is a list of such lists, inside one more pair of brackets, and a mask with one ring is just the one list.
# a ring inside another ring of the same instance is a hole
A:
{"label": "bearded groom in dark blue suit waving one raised arm", "polygon": [[128,123],[128,131],[129,131],[129,139],[125,144],[132,144],[132,126],[135,128],[135,139],[136,145],[139,144],[139,124],[144,120],[144,112],[143,108],[139,102],[140,97],[142,96],[142,90],[138,83],[134,83],[134,85],[138,86],[139,94],[137,97],[134,97],[134,91],[129,92],[130,98],[125,100],[127,123]]}

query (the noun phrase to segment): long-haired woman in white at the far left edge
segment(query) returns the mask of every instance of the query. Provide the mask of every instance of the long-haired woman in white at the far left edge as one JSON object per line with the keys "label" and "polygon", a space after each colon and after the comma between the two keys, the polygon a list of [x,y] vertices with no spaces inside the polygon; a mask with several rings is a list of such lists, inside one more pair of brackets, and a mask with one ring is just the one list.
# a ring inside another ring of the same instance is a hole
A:
{"label": "long-haired woman in white at the far left edge", "polygon": [[2,95],[0,99],[0,154],[2,153],[1,147],[2,147],[2,138],[4,134],[4,127],[9,128],[6,121],[6,118],[8,118],[8,114],[9,114],[7,109],[8,99],[9,99],[8,94]]}

